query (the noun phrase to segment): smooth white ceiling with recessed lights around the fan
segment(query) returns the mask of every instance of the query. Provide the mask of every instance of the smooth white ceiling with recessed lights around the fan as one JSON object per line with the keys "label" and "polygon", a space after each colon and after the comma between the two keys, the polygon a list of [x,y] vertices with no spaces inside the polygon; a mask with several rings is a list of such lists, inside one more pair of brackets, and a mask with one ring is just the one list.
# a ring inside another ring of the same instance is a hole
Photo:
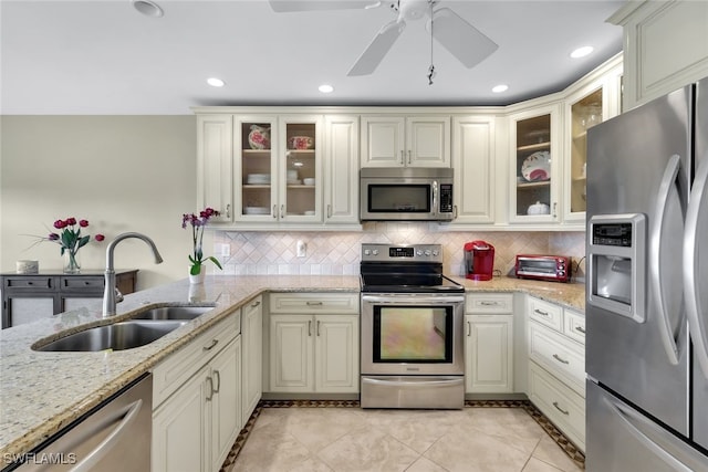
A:
{"label": "smooth white ceiling with recessed lights around the fan", "polygon": [[[336,0],[323,0],[336,1]],[[394,20],[369,10],[275,13],[266,0],[0,2],[3,115],[171,115],[199,105],[507,105],[564,88],[622,50],[624,1],[439,0],[499,44],[466,69],[409,22],[374,74],[346,73]],[[571,50],[595,52],[573,60]],[[214,88],[206,78],[227,85]],[[322,83],[335,91],[317,92]],[[491,93],[506,83],[509,91]]]}

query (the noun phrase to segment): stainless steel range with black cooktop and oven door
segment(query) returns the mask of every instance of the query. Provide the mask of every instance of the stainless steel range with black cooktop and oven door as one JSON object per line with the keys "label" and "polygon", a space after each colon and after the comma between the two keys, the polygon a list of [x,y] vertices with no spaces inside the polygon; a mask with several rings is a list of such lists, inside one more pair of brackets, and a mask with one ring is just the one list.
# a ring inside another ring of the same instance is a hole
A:
{"label": "stainless steel range with black cooktop and oven door", "polygon": [[440,244],[362,244],[362,408],[462,408],[465,289]]}

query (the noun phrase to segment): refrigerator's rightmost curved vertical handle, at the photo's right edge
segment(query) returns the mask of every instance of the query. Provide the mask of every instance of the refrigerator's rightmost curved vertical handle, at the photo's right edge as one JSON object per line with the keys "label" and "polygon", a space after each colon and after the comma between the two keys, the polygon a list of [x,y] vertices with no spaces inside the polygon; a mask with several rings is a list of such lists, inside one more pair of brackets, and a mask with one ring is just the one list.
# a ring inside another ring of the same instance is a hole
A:
{"label": "refrigerator's rightmost curved vertical handle, at the photo's right edge", "polygon": [[[694,178],[694,186],[688,199],[688,210],[686,212],[686,230],[684,239],[684,294],[686,297],[686,314],[688,316],[688,329],[694,342],[694,352],[698,357],[698,364],[708,377],[708,335],[706,334],[706,313],[702,313],[698,285],[705,281],[699,281],[698,261],[698,233],[700,231],[701,208],[708,208],[708,201],[704,201],[708,196],[706,183],[708,181],[708,158],[702,159]],[[702,203],[702,204],[701,204]],[[705,248],[704,248],[705,249]],[[705,256],[705,254],[704,254]]]}

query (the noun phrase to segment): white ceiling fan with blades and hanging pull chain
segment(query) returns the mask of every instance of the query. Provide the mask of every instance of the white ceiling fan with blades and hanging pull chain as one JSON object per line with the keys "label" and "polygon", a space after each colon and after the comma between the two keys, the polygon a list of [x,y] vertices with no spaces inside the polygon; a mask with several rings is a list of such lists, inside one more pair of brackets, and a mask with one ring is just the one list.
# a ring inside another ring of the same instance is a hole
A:
{"label": "white ceiling fan with blades and hanging pull chain", "polygon": [[[449,8],[435,7],[442,0],[269,0],[275,12],[371,9],[388,4],[397,18],[374,36],[346,75],[372,74],[406,28],[407,21],[427,19],[430,39],[437,40],[466,67],[471,69],[499,46]],[[433,44],[430,44],[429,83],[433,83]]]}

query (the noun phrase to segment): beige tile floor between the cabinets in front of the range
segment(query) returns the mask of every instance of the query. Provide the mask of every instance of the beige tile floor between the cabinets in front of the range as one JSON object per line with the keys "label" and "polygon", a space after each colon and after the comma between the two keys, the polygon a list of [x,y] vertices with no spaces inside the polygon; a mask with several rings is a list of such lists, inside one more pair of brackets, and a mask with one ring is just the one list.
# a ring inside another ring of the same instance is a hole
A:
{"label": "beige tile floor between the cabinets in front of the range", "polygon": [[262,408],[231,471],[576,472],[523,408]]}

